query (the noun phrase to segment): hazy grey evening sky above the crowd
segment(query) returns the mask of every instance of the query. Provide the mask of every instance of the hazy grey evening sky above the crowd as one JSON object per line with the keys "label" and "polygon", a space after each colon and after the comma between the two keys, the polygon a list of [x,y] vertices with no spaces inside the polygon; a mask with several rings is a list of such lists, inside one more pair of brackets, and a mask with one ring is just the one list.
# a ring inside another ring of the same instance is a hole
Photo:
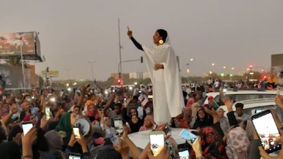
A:
{"label": "hazy grey evening sky above the crowd", "polygon": [[[1,0],[0,5],[0,32],[38,31],[46,61],[35,63],[36,72],[49,66],[59,70],[57,79],[68,78],[67,70],[70,78],[92,78],[88,61],[96,61],[100,81],[118,72],[118,18],[122,61],[143,55],[126,26],[146,45],[163,28],[180,57],[181,76],[187,76],[186,63],[191,76],[210,70],[236,74],[250,65],[267,70],[271,55],[283,53],[282,0]],[[122,72],[145,71],[145,63],[122,63]]]}

